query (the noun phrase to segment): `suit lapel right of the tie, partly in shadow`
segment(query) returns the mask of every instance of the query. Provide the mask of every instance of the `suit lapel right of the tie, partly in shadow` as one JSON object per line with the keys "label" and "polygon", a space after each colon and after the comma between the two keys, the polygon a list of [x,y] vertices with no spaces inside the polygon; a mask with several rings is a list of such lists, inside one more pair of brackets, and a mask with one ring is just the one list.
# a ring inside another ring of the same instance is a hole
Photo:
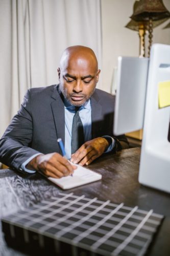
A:
{"label": "suit lapel right of the tie, partly in shadow", "polygon": [[99,103],[99,97],[96,91],[91,96],[91,134],[92,139],[100,136],[102,129],[100,122],[102,120],[102,106]]}

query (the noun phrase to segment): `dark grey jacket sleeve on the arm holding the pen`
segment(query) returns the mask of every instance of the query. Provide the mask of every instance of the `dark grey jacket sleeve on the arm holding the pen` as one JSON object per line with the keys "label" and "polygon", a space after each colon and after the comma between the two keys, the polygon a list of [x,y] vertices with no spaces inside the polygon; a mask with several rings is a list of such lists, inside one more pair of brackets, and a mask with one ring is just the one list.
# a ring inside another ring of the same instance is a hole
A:
{"label": "dark grey jacket sleeve on the arm holding the pen", "polygon": [[39,153],[29,147],[33,132],[30,98],[28,90],[20,110],[13,117],[0,140],[0,161],[16,169],[19,169],[28,158]]}

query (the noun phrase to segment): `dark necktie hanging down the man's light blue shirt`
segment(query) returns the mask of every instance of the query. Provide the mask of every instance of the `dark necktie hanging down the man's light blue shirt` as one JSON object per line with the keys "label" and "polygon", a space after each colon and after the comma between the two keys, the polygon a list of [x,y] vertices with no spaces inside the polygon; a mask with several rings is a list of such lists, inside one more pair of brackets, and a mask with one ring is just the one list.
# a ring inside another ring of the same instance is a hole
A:
{"label": "dark necktie hanging down the man's light blue shirt", "polygon": [[75,115],[72,121],[71,131],[71,154],[74,154],[78,148],[84,143],[83,124],[79,116],[80,107],[75,107]]}

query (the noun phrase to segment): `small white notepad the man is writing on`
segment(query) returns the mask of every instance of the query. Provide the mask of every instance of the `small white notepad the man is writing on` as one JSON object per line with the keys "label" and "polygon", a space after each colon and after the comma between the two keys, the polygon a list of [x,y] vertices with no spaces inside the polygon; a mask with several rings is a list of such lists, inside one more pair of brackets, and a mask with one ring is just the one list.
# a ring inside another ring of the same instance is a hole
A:
{"label": "small white notepad the man is writing on", "polygon": [[72,176],[69,175],[60,179],[47,177],[48,180],[54,182],[62,189],[69,189],[102,179],[101,174],[95,173],[93,170],[87,169],[81,165],[75,165],[77,166],[77,169],[74,170]]}

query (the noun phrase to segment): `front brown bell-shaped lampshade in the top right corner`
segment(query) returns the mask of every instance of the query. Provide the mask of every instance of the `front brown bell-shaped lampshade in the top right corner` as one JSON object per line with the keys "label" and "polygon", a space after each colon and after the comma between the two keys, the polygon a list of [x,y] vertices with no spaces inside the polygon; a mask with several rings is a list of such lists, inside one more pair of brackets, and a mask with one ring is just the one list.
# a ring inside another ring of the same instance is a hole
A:
{"label": "front brown bell-shaped lampshade in the top right corner", "polygon": [[131,18],[136,22],[159,20],[170,17],[169,11],[164,6],[162,0],[139,0]]}

